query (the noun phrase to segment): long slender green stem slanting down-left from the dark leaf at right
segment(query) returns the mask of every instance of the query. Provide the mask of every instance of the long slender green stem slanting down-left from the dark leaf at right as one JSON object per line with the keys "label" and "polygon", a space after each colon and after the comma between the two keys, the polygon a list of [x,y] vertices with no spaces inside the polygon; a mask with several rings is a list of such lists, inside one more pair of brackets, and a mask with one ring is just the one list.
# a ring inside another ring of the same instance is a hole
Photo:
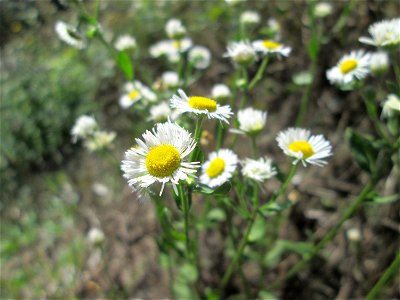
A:
{"label": "long slender green stem slanting down-left from the dark leaf at right", "polygon": [[[300,270],[302,270],[308,264],[308,262],[311,261],[336,236],[336,234],[342,228],[344,222],[346,222],[357,211],[361,203],[373,190],[376,183],[377,182],[373,179],[368,182],[368,184],[364,187],[358,197],[345,211],[339,222],[331,230],[329,230],[327,234],[325,234],[324,238],[317,245],[314,246],[313,250],[308,256],[305,256],[289,270],[284,279],[289,279],[300,272]],[[275,282],[274,284],[272,284],[272,287],[280,286],[281,283],[282,282]]]}

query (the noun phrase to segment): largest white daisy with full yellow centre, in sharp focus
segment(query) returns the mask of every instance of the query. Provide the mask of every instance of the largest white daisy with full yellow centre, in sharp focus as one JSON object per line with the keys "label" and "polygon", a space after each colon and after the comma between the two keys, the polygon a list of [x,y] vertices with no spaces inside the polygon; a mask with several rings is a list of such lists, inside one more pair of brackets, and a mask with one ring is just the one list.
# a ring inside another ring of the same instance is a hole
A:
{"label": "largest white daisy with full yellow centre, in sharp focus", "polygon": [[187,158],[196,146],[191,134],[170,121],[157,123],[152,131],[136,139],[137,147],[125,152],[121,169],[128,184],[140,191],[156,182],[162,184],[160,196],[165,184],[172,183],[176,194],[179,181],[194,176],[198,162],[188,162]]}

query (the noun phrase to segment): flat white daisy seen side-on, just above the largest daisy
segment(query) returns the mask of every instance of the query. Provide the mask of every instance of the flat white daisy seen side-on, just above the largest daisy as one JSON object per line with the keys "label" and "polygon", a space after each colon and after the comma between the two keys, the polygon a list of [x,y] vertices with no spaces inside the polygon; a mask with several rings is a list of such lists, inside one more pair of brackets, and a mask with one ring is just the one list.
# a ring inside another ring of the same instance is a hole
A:
{"label": "flat white daisy seen side-on, just above the largest daisy", "polygon": [[179,113],[207,115],[209,119],[219,119],[226,123],[229,123],[228,119],[233,115],[229,105],[220,106],[217,101],[202,96],[188,97],[182,90],[178,90],[178,94],[172,96],[171,107]]}

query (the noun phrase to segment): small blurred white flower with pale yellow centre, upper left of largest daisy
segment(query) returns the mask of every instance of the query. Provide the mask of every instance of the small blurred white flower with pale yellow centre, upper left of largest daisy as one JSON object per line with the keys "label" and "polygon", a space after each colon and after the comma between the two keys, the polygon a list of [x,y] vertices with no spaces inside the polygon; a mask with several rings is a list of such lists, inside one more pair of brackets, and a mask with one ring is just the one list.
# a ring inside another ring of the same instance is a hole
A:
{"label": "small blurred white flower with pale yellow centre, upper left of largest daisy", "polygon": [[157,95],[140,81],[127,82],[124,85],[124,94],[119,98],[119,105],[122,108],[131,107],[141,99],[154,102],[157,100]]}

